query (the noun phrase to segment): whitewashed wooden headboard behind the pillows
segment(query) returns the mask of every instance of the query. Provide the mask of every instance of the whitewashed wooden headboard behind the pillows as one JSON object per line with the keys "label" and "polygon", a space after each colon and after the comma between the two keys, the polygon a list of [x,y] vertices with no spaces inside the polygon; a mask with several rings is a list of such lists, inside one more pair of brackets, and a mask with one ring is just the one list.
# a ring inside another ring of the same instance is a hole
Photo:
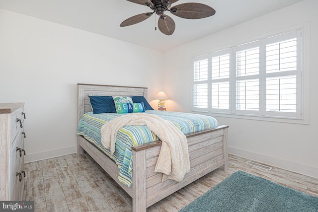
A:
{"label": "whitewashed wooden headboard behind the pillows", "polygon": [[78,122],[80,117],[91,111],[88,95],[96,96],[144,96],[147,87],[128,87],[116,85],[78,84]]}

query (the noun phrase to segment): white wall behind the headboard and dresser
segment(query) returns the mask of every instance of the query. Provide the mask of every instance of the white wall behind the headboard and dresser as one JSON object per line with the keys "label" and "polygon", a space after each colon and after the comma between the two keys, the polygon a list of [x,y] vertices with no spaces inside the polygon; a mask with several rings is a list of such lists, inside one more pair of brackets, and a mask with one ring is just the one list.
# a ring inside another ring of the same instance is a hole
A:
{"label": "white wall behind the headboard and dresser", "polygon": [[77,83],[149,87],[151,101],[162,60],[162,52],[0,9],[0,102],[25,102],[25,161],[77,151]]}

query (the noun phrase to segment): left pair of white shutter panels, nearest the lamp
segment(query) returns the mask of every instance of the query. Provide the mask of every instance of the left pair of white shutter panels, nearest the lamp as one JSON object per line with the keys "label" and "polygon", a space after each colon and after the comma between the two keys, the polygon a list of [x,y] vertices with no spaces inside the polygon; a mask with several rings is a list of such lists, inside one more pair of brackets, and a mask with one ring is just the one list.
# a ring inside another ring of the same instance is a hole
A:
{"label": "left pair of white shutter panels, nearest the lamp", "polygon": [[193,108],[197,111],[230,111],[230,51],[193,60]]}

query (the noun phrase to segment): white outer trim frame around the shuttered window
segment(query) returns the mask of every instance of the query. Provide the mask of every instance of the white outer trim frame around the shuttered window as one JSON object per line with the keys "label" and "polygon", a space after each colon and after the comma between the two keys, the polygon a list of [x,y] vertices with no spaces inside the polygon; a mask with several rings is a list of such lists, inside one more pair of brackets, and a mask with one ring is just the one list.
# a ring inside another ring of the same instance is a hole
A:
{"label": "white outer trim frame around the shuttered window", "polygon": [[[269,121],[269,122],[281,122],[281,123],[291,123],[291,124],[304,124],[304,125],[310,125],[310,22],[305,22],[302,24],[298,24],[292,27],[288,27],[285,29],[282,29],[280,31],[276,31],[275,33],[268,33],[265,35],[262,35],[261,37],[255,37],[253,39],[250,39],[249,41],[246,40],[245,42],[240,42],[236,44],[231,44],[229,47],[223,47],[222,49],[229,49],[236,45],[240,45],[242,43],[248,43],[253,42],[256,40],[260,40],[263,38],[268,38],[271,36],[276,36],[279,34],[287,33],[289,31],[295,31],[297,29],[302,29],[302,52],[301,52],[301,63],[298,64],[298,66],[301,67],[301,107],[302,107],[302,118],[294,118],[294,117],[278,117],[278,116],[270,116],[270,113],[267,113],[266,116],[259,116],[259,115],[253,115],[253,114],[230,114],[227,112],[216,112],[216,111],[204,111],[204,110],[198,110],[197,108],[193,107],[193,86],[191,86],[191,111],[194,113],[214,116],[214,117],[225,117],[225,118],[237,118],[237,119],[249,119],[249,120],[258,120],[258,121]],[[209,51],[209,52],[217,52],[218,50]],[[220,50],[222,51],[222,50]],[[233,52],[233,51],[232,51]],[[207,55],[209,53],[205,53]],[[232,53],[231,53],[232,54]],[[263,53],[261,53],[263,54]],[[200,54],[203,55],[203,54]],[[191,58],[198,57],[199,55],[193,55]],[[193,66],[193,63],[191,63],[191,66]],[[233,64],[231,64],[233,66]],[[191,67],[191,72],[193,71],[193,68]],[[231,71],[232,72],[232,71]],[[232,74],[232,73],[230,73]],[[233,77],[230,77],[230,83],[233,82]],[[191,82],[193,82],[193,74],[191,74]],[[261,85],[260,85],[261,86]],[[230,96],[232,96],[232,89],[230,89]],[[300,99],[299,99],[300,100]],[[230,107],[234,104],[233,98],[230,98]],[[231,110],[231,108],[230,108]],[[233,110],[232,110],[233,111]]]}

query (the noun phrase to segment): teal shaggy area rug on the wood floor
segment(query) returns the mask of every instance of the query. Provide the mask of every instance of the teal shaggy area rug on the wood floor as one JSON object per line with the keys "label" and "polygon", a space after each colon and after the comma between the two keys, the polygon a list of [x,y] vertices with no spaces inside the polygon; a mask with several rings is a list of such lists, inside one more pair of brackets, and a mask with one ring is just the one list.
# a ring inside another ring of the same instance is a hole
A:
{"label": "teal shaggy area rug on the wood floor", "polygon": [[237,171],[179,212],[318,212],[318,197]]}

